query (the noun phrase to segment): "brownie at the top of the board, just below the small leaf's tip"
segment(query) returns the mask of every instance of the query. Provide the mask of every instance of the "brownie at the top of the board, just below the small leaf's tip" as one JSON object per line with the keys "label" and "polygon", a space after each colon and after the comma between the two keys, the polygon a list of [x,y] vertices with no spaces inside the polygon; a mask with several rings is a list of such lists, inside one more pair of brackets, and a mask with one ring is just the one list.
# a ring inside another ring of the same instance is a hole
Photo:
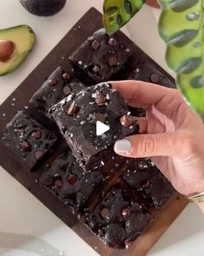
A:
{"label": "brownie at the top of the board, just below the small leaf's tip", "polygon": [[104,29],[97,30],[76,49],[70,61],[83,71],[83,78],[91,82],[105,82],[114,78],[131,57],[132,51],[124,36],[118,32],[109,36]]}

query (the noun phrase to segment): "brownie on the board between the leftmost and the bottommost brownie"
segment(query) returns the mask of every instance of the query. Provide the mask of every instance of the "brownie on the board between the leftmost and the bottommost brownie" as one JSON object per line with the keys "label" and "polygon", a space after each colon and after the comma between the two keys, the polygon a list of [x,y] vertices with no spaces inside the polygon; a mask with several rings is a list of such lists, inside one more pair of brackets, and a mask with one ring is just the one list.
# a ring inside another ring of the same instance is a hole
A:
{"label": "brownie on the board between the leftmost and the bottommost brownie", "polygon": [[82,211],[102,180],[103,174],[100,171],[85,173],[69,148],[64,150],[41,176],[41,183],[63,203],[72,207],[74,212]]}

